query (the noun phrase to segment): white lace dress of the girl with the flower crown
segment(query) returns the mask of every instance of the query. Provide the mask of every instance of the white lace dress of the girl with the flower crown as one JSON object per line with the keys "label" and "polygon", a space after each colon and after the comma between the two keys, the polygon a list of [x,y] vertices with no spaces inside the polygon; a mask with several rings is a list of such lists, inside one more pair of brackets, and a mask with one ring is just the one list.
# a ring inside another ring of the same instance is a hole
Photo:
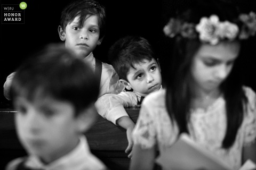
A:
{"label": "white lace dress of the girl with the flower crown", "polygon": [[[188,125],[191,138],[195,142],[217,154],[233,169],[241,167],[243,146],[255,142],[256,138],[256,96],[251,88],[245,87],[244,90],[249,99],[247,113],[238,130],[235,143],[229,150],[221,148],[227,124],[226,102],[222,97],[215,100],[206,111],[191,111]],[[145,98],[133,130],[134,144],[139,144],[145,149],[157,145],[160,153],[171,147],[178,137],[178,126],[171,121],[165,107],[165,94],[166,90],[162,90],[153,92]]]}

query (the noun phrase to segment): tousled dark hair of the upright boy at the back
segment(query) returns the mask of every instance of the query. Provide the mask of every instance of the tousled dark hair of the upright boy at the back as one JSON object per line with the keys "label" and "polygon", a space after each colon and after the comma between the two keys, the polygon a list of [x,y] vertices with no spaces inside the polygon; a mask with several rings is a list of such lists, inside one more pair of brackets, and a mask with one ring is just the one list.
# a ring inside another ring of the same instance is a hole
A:
{"label": "tousled dark hair of the upright boy at the back", "polygon": [[78,15],[80,15],[80,26],[84,24],[88,15],[97,15],[100,28],[100,38],[104,37],[106,31],[106,10],[104,6],[94,0],[73,0],[61,12],[61,28],[65,31],[67,24],[72,22]]}

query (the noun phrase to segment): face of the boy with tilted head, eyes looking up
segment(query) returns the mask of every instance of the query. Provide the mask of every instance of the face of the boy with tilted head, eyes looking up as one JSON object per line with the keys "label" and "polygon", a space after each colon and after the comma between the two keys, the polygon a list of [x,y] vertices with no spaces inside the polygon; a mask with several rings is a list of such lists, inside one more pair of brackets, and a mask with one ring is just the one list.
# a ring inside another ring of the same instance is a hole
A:
{"label": "face of the boy with tilted head, eyes looking up", "polygon": [[151,61],[143,60],[133,66],[135,69],[131,67],[127,80],[134,91],[148,95],[161,88],[161,69],[154,58]]}

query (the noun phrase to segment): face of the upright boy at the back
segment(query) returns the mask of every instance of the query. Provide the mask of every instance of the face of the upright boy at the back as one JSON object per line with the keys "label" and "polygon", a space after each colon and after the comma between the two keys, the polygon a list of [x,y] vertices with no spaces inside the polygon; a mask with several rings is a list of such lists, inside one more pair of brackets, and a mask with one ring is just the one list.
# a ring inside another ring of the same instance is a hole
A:
{"label": "face of the upright boy at the back", "polygon": [[71,23],[67,24],[64,35],[66,48],[70,48],[77,55],[85,58],[97,45],[101,44],[98,17],[96,15],[87,17],[81,28],[79,16],[76,16]]}

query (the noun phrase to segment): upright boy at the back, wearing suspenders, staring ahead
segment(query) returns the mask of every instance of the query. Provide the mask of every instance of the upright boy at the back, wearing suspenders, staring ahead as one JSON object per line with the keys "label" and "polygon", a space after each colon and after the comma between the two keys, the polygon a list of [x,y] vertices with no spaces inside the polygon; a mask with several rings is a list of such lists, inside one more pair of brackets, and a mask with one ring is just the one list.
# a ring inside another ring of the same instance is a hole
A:
{"label": "upright boy at the back, wearing suspenders, staring ahead", "polygon": [[[93,56],[93,50],[101,44],[106,28],[105,7],[93,0],[76,0],[69,3],[61,12],[58,32],[65,47],[73,50],[87,61],[100,80],[100,93],[118,94],[124,87],[113,66],[102,63]],[[10,98],[10,86],[14,73],[10,74],[4,84],[4,96]]]}

